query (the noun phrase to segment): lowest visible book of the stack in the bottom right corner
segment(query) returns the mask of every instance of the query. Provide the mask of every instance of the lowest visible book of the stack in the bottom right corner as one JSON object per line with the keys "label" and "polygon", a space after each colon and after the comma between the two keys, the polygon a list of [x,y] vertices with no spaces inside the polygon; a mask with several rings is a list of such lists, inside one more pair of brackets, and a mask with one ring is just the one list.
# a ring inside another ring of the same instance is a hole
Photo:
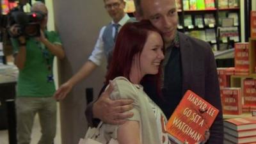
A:
{"label": "lowest visible book of the stack in the bottom right corner", "polygon": [[256,142],[256,135],[237,138],[230,134],[224,133],[224,138],[226,140],[232,141],[234,143],[254,143],[254,142]]}

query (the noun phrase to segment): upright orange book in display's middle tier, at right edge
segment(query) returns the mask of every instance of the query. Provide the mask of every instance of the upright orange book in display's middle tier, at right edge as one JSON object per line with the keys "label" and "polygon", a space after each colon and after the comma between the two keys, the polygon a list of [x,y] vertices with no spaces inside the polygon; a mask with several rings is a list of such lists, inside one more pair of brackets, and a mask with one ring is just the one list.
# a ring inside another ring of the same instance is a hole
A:
{"label": "upright orange book in display's middle tier, at right edge", "polygon": [[244,79],[244,105],[256,106],[256,79]]}

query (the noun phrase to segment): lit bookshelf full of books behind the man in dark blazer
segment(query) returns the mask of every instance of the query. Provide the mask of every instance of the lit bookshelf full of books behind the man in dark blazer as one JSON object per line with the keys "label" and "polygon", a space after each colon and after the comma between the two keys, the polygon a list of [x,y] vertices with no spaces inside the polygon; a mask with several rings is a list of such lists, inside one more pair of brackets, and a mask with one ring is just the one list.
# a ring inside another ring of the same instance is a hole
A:
{"label": "lit bookshelf full of books behind the man in dark blazer", "polygon": [[180,0],[176,3],[179,31],[209,42],[213,51],[231,49],[234,42],[241,42],[239,1]]}

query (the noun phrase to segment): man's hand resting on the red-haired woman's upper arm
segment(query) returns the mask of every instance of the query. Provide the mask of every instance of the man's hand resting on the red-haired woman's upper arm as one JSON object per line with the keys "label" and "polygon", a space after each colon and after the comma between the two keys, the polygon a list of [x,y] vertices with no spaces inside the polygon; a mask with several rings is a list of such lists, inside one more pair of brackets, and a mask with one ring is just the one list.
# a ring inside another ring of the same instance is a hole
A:
{"label": "man's hand resting on the red-haired woman's upper arm", "polygon": [[93,117],[99,118],[107,124],[124,124],[126,118],[133,116],[127,112],[133,108],[132,99],[111,100],[109,95],[113,91],[113,84],[103,92],[99,99],[93,104]]}

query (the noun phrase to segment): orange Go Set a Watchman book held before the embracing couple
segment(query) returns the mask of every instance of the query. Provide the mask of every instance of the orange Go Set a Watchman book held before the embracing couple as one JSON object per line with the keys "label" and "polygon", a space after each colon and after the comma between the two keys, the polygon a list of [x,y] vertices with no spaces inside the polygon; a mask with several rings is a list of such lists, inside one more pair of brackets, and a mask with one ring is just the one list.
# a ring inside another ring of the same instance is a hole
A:
{"label": "orange Go Set a Watchman book held before the embracing couple", "polygon": [[180,143],[204,140],[219,110],[188,90],[166,124],[166,131]]}

